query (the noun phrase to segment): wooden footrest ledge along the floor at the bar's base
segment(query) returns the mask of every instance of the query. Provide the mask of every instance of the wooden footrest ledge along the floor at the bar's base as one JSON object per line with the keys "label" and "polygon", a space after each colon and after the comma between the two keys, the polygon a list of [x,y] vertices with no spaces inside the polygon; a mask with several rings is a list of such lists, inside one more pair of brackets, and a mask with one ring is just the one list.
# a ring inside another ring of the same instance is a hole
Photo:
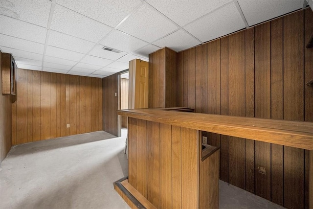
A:
{"label": "wooden footrest ledge along the floor at the bar's base", "polygon": [[128,182],[128,177],[114,182],[114,189],[132,209],[156,209]]}

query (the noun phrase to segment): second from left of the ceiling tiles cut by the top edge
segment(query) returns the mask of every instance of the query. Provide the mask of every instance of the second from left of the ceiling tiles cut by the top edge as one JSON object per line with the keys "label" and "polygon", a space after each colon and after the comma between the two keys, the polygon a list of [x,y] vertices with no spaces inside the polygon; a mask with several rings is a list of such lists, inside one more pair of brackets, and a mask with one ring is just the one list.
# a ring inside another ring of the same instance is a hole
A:
{"label": "second from left of the ceiling tiles cut by the top edge", "polygon": [[[81,13],[89,18],[115,27],[132,10],[141,4],[140,0],[56,0],[56,3]],[[105,15],[104,15],[105,14]]]}

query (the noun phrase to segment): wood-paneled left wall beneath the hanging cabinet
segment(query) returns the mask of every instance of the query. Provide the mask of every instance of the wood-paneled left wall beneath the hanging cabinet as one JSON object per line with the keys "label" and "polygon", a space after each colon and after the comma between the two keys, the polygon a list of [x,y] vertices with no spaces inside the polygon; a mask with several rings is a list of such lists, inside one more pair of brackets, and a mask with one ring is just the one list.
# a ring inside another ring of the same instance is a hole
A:
{"label": "wood-paneled left wall beneath the hanging cabinet", "polygon": [[2,69],[0,51],[0,164],[12,146],[12,104],[11,95],[2,94]]}

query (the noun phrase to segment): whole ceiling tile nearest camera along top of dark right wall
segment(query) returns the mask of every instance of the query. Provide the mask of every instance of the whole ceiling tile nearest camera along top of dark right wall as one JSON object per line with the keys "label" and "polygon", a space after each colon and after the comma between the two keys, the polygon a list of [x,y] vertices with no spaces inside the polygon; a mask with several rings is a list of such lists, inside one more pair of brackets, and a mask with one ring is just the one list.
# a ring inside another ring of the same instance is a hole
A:
{"label": "whole ceiling tile nearest camera along top of dark right wall", "polygon": [[231,3],[183,28],[202,42],[207,42],[245,27],[235,4]]}

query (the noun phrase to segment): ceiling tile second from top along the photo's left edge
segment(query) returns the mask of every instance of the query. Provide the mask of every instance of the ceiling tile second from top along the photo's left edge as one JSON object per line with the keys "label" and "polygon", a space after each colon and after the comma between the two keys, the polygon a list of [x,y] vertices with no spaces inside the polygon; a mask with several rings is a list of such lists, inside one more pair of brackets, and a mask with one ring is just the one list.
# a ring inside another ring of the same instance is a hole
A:
{"label": "ceiling tile second from top along the photo's left edge", "polygon": [[0,33],[45,44],[47,29],[35,24],[0,15]]}

